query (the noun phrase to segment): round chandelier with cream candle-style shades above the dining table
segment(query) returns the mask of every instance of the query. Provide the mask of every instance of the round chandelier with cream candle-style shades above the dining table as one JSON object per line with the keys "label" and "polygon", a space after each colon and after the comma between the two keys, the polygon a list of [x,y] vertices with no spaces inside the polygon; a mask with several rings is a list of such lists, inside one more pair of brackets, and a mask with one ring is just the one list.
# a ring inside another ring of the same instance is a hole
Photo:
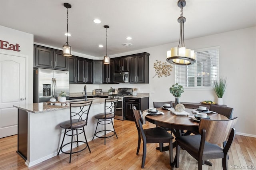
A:
{"label": "round chandelier with cream candle-style shades above the dining table", "polygon": [[173,47],[170,51],[167,51],[166,61],[171,64],[190,65],[196,62],[194,50],[186,49],[184,44],[184,22],[186,22],[186,18],[182,16],[184,6],[186,6],[186,0],[179,0],[180,17],[178,18],[178,22],[180,23],[180,40],[178,47]]}

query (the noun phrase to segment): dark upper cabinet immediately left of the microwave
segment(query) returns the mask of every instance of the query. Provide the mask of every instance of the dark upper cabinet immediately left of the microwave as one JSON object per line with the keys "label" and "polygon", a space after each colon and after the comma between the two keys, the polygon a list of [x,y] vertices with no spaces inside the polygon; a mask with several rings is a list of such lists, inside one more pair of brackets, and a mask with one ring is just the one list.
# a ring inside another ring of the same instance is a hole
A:
{"label": "dark upper cabinet immediately left of the microwave", "polygon": [[114,84],[114,59],[110,59],[109,64],[103,64],[103,84]]}

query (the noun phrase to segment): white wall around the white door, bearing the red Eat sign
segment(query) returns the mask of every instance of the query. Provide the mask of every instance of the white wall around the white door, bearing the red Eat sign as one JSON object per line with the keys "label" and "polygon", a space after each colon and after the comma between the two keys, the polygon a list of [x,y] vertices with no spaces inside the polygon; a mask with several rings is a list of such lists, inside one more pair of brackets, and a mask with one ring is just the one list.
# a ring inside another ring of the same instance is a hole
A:
{"label": "white wall around the white door, bearing the red Eat sign", "polygon": [[0,49],[0,53],[26,57],[26,103],[33,103],[34,36],[32,34],[0,26],[0,40],[7,41],[9,44],[18,43],[20,46],[20,51]]}

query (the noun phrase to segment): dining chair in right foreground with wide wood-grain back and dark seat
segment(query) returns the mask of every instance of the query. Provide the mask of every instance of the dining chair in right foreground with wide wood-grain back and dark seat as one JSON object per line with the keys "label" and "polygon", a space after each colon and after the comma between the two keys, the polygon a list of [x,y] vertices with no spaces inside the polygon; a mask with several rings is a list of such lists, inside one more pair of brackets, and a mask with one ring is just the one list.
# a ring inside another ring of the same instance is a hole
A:
{"label": "dining chair in right foreground with wide wood-grain back and dark seat", "polygon": [[[235,137],[233,127],[236,121],[237,117],[225,121],[201,119],[200,134],[176,137],[176,167],[179,167],[180,148],[183,148],[198,160],[198,170],[202,170],[204,163],[212,166],[212,163],[208,162],[207,159],[216,158],[222,158],[222,168],[227,170],[228,150]],[[228,142],[223,149],[218,146],[227,139]]]}

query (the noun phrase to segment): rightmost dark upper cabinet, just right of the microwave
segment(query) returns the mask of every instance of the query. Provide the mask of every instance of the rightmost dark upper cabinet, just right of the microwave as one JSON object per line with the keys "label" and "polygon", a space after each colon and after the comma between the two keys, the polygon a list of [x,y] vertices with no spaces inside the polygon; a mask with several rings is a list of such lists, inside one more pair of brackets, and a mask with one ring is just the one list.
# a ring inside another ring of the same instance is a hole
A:
{"label": "rightmost dark upper cabinet, just right of the microwave", "polygon": [[149,82],[149,53],[139,53],[130,56],[130,83]]}

